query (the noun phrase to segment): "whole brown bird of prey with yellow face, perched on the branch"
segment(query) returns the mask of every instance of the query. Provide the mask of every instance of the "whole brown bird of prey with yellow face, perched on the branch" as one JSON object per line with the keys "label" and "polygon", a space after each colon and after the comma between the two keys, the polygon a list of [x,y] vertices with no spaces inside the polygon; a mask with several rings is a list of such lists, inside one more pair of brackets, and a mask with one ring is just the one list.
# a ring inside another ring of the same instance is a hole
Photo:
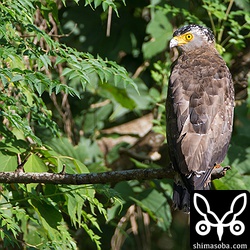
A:
{"label": "whole brown bird of prey with yellow face, perched on the branch", "polygon": [[166,101],[167,141],[175,178],[174,208],[189,212],[190,192],[210,189],[211,172],[225,158],[231,138],[234,88],[210,29],[177,29]]}

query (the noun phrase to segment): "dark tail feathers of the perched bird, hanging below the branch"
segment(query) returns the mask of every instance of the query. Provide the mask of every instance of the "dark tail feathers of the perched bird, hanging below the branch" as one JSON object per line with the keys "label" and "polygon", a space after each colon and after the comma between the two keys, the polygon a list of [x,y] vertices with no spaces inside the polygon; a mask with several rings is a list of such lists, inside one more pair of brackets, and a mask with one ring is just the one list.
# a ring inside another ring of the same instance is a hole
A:
{"label": "dark tail feathers of the perched bird, hanging below the branch", "polygon": [[190,211],[190,193],[193,190],[209,190],[211,188],[211,171],[202,174],[192,173],[189,176],[177,174],[174,183],[173,208]]}

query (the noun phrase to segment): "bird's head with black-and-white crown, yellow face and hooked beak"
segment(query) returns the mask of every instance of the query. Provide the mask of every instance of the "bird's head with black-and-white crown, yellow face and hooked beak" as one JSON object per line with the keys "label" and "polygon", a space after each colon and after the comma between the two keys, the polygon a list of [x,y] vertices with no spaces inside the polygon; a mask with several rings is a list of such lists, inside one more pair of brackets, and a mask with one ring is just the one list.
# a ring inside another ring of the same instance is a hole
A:
{"label": "bird's head with black-and-white crown, yellow face and hooked beak", "polygon": [[201,47],[214,46],[215,38],[212,31],[206,27],[190,24],[176,30],[170,41],[170,49],[180,48],[182,51],[191,51]]}

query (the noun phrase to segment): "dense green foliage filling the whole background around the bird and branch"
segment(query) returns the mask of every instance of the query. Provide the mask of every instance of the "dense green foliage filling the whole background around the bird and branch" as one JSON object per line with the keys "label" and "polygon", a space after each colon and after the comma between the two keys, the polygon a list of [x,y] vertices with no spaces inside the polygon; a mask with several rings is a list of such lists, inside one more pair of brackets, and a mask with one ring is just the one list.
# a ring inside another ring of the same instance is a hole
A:
{"label": "dense green foliage filling the whole background around the bird and branch", "polygon": [[[124,142],[105,152],[100,147],[105,129],[153,113],[154,131],[165,134],[171,64],[166,47],[173,29],[190,22],[210,27],[233,72],[234,61],[247,63],[238,54],[249,51],[249,9],[245,0],[152,0],[150,6],[141,0],[3,1],[0,170],[15,171],[23,163],[26,172],[60,172],[63,166],[72,174],[108,171],[109,159],[122,159],[118,148]],[[242,74],[247,76],[247,69]],[[224,162],[232,170],[214,181],[214,188],[250,190],[249,102],[237,101]],[[159,164],[133,160],[134,167]],[[172,219],[171,186],[172,180],[112,188],[2,185],[0,247],[115,249],[114,242],[123,242],[124,248],[143,249],[147,243],[166,249],[164,238],[183,248],[175,235],[186,229]]]}

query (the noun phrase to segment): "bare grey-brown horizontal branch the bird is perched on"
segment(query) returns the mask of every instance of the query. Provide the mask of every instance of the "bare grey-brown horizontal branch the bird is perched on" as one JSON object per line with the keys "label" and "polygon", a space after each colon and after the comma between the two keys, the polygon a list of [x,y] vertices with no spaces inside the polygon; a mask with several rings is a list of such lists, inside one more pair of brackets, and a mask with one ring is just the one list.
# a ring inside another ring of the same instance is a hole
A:
{"label": "bare grey-brown horizontal branch the bird is perched on", "polygon": [[[228,166],[215,168],[212,171],[212,179],[225,176],[228,169],[230,169]],[[89,174],[66,174],[64,171],[58,174],[47,172],[25,173],[17,170],[15,172],[0,172],[0,183],[107,184],[128,180],[173,179],[174,173],[171,168],[132,169]]]}

